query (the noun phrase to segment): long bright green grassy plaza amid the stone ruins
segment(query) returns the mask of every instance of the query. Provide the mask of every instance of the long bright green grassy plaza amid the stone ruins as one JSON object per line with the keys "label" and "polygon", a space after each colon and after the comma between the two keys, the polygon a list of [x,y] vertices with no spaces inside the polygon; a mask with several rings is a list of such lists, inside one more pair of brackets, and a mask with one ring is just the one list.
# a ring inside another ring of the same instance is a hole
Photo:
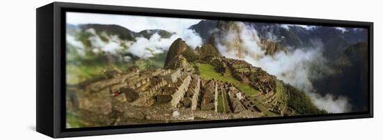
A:
{"label": "long bright green grassy plaza amid the stone ruins", "polygon": [[198,67],[200,71],[201,78],[205,78],[205,79],[214,78],[217,80],[222,80],[224,82],[233,83],[241,91],[243,91],[244,94],[246,94],[246,96],[256,96],[257,94],[260,94],[258,90],[251,88],[248,84],[245,84],[233,78],[233,76],[231,76],[230,71],[226,71],[226,73],[224,74],[225,76],[222,76],[221,73],[218,73],[217,71],[214,70],[214,67],[211,64],[196,63],[196,66]]}

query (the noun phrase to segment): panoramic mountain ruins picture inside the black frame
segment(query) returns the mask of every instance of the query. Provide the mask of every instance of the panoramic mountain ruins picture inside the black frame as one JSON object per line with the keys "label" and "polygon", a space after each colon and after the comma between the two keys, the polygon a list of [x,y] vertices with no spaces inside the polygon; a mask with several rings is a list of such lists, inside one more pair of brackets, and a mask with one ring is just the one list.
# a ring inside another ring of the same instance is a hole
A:
{"label": "panoramic mountain ruins picture inside the black frame", "polygon": [[368,111],[368,30],[66,12],[66,128]]}

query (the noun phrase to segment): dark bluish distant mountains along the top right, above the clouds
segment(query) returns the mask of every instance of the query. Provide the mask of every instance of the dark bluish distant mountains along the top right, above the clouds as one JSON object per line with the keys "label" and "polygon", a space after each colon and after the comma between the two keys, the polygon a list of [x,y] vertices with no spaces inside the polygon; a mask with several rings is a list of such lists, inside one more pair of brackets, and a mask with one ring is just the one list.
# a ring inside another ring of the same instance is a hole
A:
{"label": "dark bluish distant mountains along the top right, above the clouds", "polygon": [[[227,30],[222,23],[227,21],[203,20],[191,26],[196,33],[201,35],[205,43],[212,43],[209,39],[214,33],[214,28]],[[230,21],[229,21],[230,22]],[[336,27],[329,26],[292,26],[289,24],[269,24],[260,22],[243,22],[255,29],[260,38],[274,40],[282,46],[292,46],[295,48],[310,47],[313,40],[320,40],[328,50],[328,57],[341,55],[346,46],[367,40],[367,30],[357,30],[350,28],[343,32]],[[229,23],[230,24],[230,23]],[[236,29],[234,26],[232,29]]]}

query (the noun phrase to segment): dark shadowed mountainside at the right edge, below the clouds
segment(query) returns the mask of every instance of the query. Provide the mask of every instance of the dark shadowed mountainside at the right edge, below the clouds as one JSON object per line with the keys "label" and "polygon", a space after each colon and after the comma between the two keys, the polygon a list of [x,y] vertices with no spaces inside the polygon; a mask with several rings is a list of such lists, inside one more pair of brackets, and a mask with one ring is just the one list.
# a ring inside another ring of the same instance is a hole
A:
{"label": "dark shadowed mountainside at the right edge, below the clouds", "polygon": [[359,42],[347,46],[334,63],[334,73],[314,82],[318,91],[350,96],[352,110],[367,110],[368,100],[368,44]]}

